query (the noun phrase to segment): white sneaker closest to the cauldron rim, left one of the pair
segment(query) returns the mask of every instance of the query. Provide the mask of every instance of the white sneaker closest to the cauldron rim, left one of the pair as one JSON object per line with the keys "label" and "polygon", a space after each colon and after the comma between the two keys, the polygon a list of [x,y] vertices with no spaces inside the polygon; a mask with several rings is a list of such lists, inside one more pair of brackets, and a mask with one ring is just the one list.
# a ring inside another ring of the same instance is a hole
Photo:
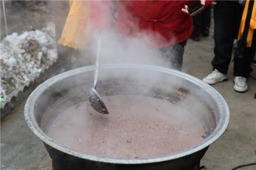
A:
{"label": "white sneaker closest to the cauldron rim, left one of the pair", "polygon": [[203,81],[209,85],[212,85],[224,80],[228,80],[228,77],[225,74],[219,72],[217,69],[213,70],[211,74],[203,78]]}

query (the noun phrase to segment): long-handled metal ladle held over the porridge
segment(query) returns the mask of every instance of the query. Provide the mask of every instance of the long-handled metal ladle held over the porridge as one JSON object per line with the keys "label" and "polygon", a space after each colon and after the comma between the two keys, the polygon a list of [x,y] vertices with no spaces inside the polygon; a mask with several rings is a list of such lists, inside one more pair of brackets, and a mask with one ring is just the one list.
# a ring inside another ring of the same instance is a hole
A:
{"label": "long-handled metal ladle held over the porridge", "polygon": [[100,48],[101,48],[101,37],[98,38],[98,46],[97,46],[97,56],[96,56],[96,64],[95,64],[95,74],[94,74],[94,87],[92,87],[89,91],[89,103],[99,113],[109,114],[108,109],[100,95],[96,91],[97,81],[98,81],[98,71],[100,68]]}

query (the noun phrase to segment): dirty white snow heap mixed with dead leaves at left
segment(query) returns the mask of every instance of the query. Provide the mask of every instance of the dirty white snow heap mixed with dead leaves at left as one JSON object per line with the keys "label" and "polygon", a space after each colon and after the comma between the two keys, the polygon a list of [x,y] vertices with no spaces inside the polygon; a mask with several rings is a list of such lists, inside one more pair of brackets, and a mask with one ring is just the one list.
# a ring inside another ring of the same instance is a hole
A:
{"label": "dirty white snow heap mixed with dead leaves at left", "polygon": [[57,60],[55,36],[55,24],[50,22],[42,30],[12,33],[1,41],[1,98],[10,100],[20,86],[34,81]]}

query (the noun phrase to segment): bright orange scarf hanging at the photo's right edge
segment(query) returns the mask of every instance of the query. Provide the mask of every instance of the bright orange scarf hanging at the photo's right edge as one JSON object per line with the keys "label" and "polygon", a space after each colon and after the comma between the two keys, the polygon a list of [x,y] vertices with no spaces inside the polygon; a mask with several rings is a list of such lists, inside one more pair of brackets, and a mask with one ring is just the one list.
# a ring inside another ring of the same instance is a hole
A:
{"label": "bright orange scarf hanging at the photo's right edge", "polygon": [[[246,1],[245,6],[244,6],[244,11],[243,11],[243,16],[242,16],[242,20],[241,20],[241,24],[240,24],[240,28],[239,28],[237,41],[242,39],[242,36],[244,33],[244,25],[245,25],[248,7],[249,7],[249,0]],[[254,3],[253,3],[252,16],[251,16],[251,20],[250,20],[248,35],[246,38],[246,47],[251,47],[254,29],[256,29],[256,1],[254,1]]]}

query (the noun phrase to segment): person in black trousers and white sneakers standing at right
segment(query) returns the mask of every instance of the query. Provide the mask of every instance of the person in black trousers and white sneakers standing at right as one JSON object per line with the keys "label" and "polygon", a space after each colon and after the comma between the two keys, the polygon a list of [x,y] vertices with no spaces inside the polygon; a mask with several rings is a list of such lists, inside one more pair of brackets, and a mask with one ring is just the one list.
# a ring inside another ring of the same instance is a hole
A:
{"label": "person in black trousers and white sneakers standing at right", "polygon": [[[216,1],[214,6],[214,58],[211,62],[213,71],[202,80],[210,85],[228,80],[228,66],[231,61],[234,39],[238,37],[244,5],[238,1]],[[248,9],[248,7],[247,7]],[[255,10],[255,8],[254,8]],[[255,16],[254,16],[255,17]],[[255,19],[255,18],[254,18]],[[255,29],[255,28],[254,28]],[[244,65],[241,71],[234,67],[234,90],[246,92],[248,89],[246,78],[252,71],[251,63],[255,56],[255,30],[251,47],[244,50]],[[240,47],[241,41],[238,42]]]}

